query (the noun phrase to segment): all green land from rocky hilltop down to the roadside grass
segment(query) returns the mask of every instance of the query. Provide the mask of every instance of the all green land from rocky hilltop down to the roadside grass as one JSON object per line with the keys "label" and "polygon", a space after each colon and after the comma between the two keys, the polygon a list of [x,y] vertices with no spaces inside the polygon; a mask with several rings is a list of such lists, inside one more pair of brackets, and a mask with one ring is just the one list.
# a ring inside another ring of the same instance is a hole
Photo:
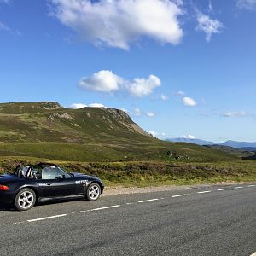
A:
{"label": "all green land from rocky hilltop down to the roadside grass", "polygon": [[161,141],[119,109],[0,104],[0,172],[19,162],[54,161],[101,177],[107,185],[256,180],[256,162],[219,149]]}

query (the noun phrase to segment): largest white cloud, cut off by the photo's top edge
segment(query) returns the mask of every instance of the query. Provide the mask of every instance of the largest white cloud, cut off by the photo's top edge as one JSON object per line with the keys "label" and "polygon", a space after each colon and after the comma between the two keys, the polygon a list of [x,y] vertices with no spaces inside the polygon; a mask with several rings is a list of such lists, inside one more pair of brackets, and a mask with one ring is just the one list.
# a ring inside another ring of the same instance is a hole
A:
{"label": "largest white cloud, cut off by the photo's top edge", "polygon": [[154,38],[178,44],[183,29],[182,1],[168,0],[49,0],[52,15],[96,45],[129,49],[132,41]]}

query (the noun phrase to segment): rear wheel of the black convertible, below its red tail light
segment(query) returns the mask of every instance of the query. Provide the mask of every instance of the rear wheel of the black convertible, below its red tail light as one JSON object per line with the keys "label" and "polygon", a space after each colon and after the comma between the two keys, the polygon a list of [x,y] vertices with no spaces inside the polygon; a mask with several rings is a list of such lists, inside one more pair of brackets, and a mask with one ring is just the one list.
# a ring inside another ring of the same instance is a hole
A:
{"label": "rear wheel of the black convertible, below its red tail light", "polygon": [[15,207],[18,211],[31,209],[37,201],[37,195],[32,189],[21,189],[15,196]]}

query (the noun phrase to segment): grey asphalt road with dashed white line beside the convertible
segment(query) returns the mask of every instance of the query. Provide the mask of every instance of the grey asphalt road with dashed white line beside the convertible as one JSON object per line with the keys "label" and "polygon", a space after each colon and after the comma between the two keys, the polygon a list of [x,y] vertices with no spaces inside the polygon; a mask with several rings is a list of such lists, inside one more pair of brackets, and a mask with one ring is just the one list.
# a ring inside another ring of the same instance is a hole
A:
{"label": "grey asphalt road with dashed white line beside the convertible", "polygon": [[221,255],[256,252],[256,185],[212,186],[0,207],[1,255]]}

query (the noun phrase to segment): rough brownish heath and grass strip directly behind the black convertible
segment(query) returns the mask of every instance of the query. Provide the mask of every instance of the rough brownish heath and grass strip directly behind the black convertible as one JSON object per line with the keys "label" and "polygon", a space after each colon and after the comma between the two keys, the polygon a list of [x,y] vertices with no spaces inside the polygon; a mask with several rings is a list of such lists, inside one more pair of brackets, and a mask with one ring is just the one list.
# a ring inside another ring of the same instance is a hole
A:
{"label": "rough brownish heath and grass strip directly behind the black convertible", "polygon": [[[12,172],[15,165],[52,162],[34,157],[1,157],[0,173]],[[256,161],[218,162],[79,162],[55,160],[69,172],[83,172],[100,177],[108,187],[148,187],[201,183],[242,183],[256,181]]]}

